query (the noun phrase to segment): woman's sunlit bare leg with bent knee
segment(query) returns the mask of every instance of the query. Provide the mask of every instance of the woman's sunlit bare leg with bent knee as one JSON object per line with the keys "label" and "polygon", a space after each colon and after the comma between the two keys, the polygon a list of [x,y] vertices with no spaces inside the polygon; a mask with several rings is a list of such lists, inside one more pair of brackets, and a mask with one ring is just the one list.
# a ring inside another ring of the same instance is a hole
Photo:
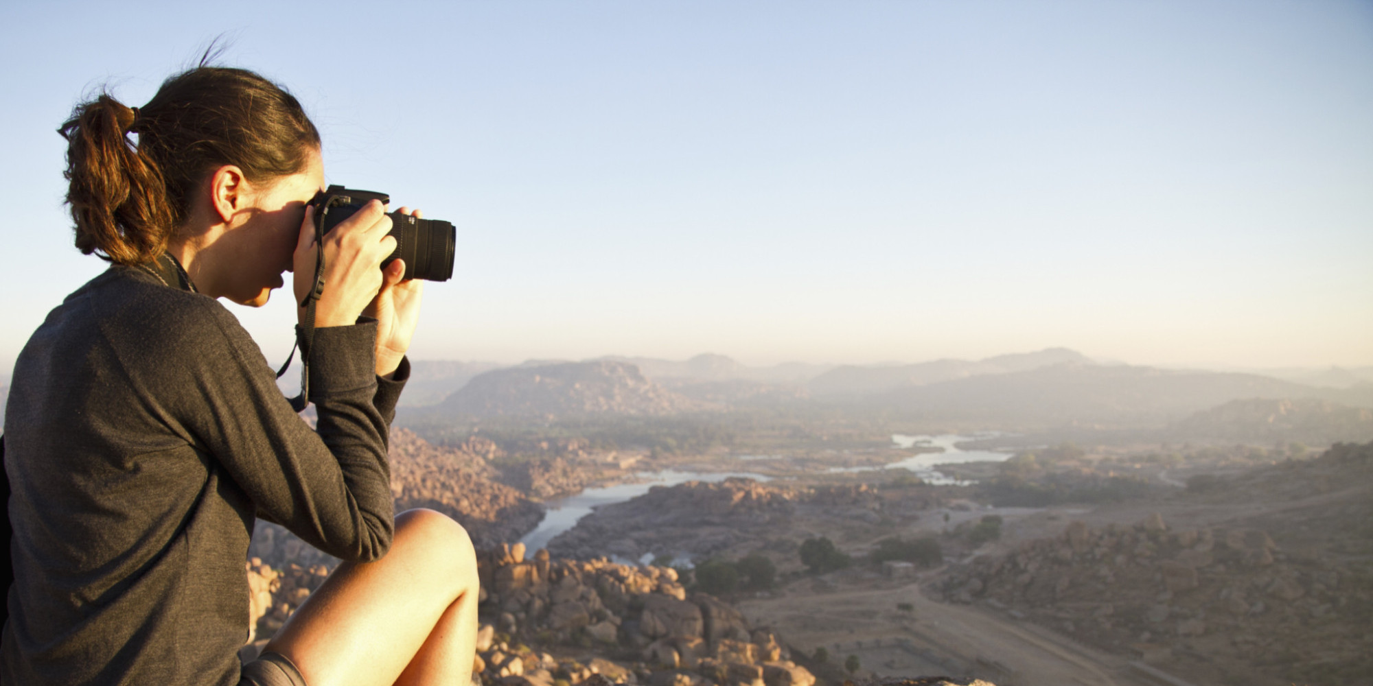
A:
{"label": "woman's sunlit bare leg with bent knee", "polygon": [[310,686],[467,686],[476,595],[467,531],[406,510],[386,557],[339,565],[264,650],[295,663]]}

